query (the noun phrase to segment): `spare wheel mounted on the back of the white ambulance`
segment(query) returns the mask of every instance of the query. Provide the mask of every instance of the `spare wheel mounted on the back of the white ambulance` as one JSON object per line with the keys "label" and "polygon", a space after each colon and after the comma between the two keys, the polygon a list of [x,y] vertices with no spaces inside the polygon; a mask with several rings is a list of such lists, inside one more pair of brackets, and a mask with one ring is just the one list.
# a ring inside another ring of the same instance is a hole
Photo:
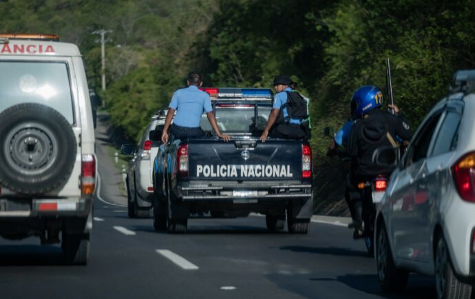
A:
{"label": "spare wheel mounted on the back of the white ambulance", "polygon": [[77,143],[62,114],[45,105],[22,103],[1,112],[0,123],[0,185],[32,196],[65,184],[76,161]]}

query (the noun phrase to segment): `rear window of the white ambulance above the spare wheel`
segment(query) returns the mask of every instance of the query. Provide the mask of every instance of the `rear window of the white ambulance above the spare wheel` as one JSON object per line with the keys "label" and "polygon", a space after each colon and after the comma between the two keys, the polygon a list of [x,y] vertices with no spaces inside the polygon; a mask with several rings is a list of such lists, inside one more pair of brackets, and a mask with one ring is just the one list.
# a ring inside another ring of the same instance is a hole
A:
{"label": "rear window of the white ambulance above the spare wheel", "polygon": [[66,63],[0,61],[0,111],[20,103],[39,103],[74,123]]}

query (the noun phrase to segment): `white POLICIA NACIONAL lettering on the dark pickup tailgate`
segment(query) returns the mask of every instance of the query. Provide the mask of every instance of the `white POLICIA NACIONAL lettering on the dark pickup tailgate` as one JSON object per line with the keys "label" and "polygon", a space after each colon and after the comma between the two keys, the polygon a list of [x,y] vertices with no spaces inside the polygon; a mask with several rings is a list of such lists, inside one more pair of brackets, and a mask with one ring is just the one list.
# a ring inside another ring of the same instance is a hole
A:
{"label": "white POLICIA NACIONAL lettering on the dark pickup tailgate", "polygon": [[[239,175],[238,175],[239,174]],[[199,178],[291,178],[290,165],[196,165]]]}

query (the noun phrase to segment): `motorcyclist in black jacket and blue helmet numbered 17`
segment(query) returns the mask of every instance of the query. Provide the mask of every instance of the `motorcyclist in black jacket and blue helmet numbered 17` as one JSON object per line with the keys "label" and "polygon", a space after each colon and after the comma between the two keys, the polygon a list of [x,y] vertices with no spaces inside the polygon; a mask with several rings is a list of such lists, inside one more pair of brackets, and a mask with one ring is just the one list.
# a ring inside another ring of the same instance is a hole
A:
{"label": "motorcyclist in black jacket and blue helmet numbered 17", "polygon": [[[378,87],[359,87],[352,100],[357,106],[356,113],[361,115],[361,120],[352,125],[348,140],[348,156],[352,158],[350,181],[352,185],[357,185],[359,181],[370,181],[379,174],[389,176],[394,169],[375,165],[372,161],[374,150],[383,146],[397,147],[398,137],[409,141],[412,130],[396,105],[388,105],[394,114],[381,110],[383,92]],[[354,207],[355,218],[350,227],[362,232],[361,198],[357,199]]]}

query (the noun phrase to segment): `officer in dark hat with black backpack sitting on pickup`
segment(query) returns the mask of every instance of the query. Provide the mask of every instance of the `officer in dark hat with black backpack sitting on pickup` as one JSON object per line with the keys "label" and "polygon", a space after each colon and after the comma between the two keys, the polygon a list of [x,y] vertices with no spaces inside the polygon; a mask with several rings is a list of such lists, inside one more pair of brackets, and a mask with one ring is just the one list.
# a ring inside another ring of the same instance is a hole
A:
{"label": "officer in dark hat with black backpack sitting on pickup", "polygon": [[[283,119],[288,118],[287,108],[284,107],[281,109],[282,105],[287,103],[288,94],[287,92],[295,92],[291,88],[293,81],[286,75],[275,76],[273,86],[277,94],[274,96],[274,103],[272,105],[271,114],[269,114],[266,128],[260,139],[262,142],[265,142],[267,136],[277,137],[277,138],[304,138],[308,137],[308,134],[302,129],[303,119],[290,118],[288,122],[279,123],[279,114],[282,110]],[[308,113],[308,112],[307,112]],[[282,118],[282,116],[280,118]]]}

